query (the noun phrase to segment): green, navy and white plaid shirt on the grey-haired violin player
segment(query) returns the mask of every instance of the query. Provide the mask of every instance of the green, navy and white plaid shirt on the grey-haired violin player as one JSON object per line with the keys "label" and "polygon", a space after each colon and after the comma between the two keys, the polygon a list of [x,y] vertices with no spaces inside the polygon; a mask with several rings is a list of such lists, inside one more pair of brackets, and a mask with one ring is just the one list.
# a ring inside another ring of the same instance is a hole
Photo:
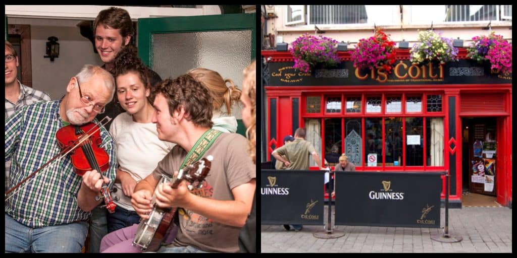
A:
{"label": "green, navy and white plaid shirt on the grey-haired violin player", "polygon": [[[11,187],[61,151],[55,138],[57,130],[63,127],[60,104],[61,101],[51,101],[23,106],[6,120],[5,159],[12,160]],[[104,127],[100,136],[101,147],[108,153],[111,165],[104,175],[113,184],[116,167],[113,139]],[[5,202],[5,213],[32,228],[85,221],[90,213],[77,203],[81,183],[69,155],[56,159],[13,191],[19,190]]]}

